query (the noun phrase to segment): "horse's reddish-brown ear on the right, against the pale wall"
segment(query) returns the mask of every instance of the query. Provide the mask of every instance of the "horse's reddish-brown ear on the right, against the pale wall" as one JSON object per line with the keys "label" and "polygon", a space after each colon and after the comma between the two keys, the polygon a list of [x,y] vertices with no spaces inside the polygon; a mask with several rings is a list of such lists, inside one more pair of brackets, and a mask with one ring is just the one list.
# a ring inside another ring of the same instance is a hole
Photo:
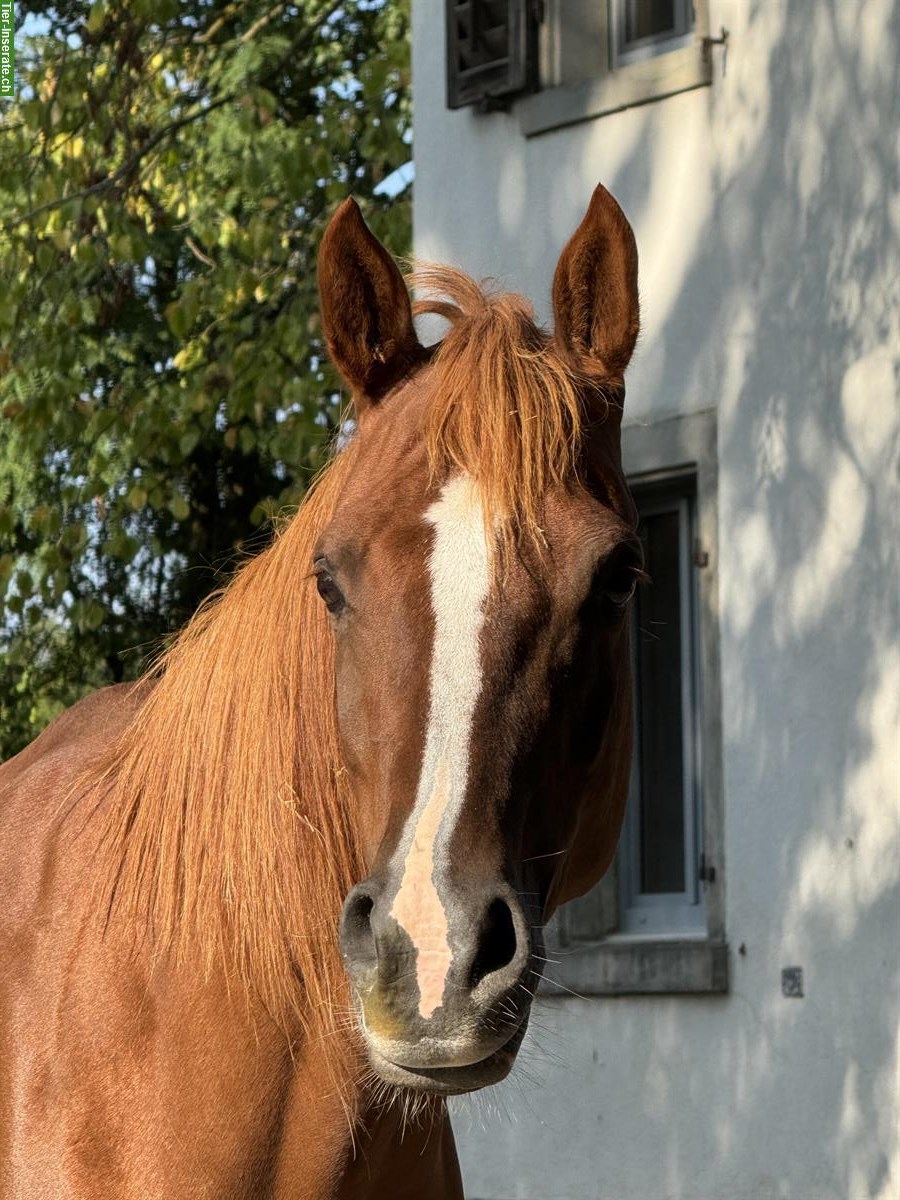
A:
{"label": "horse's reddish-brown ear on the right, against the pale wall", "polygon": [[553,319],[557,342],[583,370],[622,378],[641,324],[637,246],[625,214],[602,184],[559,257]]}

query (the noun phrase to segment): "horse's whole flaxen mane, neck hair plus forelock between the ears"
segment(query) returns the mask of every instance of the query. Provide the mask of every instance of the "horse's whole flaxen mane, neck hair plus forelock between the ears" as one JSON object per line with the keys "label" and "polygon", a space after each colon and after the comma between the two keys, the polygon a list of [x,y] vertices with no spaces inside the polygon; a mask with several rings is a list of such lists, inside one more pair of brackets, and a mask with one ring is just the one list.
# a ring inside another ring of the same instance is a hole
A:
{"label": "horse's whole flaxen mane, neck hair plus forelock between the ears", "polygon": [[[445,299],[426,438],[433,470],[467,470],[488,512],[540,532],[541,498],[575,472],[583,380],[526,301],[458,271],[414,283]],[[322,1038],[349,997],[337,914],[364,874],[340,761],[332,638],[312,548],[353,470],[323,473],[272,545],[190,622],[151,672],[131,726],[92,773],[104,821],[110,920],[146,929],[157,955],[227,965],[275,1020]]]}

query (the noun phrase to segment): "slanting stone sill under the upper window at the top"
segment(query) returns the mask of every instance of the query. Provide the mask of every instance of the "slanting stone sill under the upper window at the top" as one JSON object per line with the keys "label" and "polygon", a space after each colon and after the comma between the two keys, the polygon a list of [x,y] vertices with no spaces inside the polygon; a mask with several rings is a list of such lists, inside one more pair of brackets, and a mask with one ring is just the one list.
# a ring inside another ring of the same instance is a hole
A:
{"label": "slanting stone sill under the upper window at the top", "polygon": [[708,47],[697,41],[668,54],[658,54],[620,67],[599,79],[547,88],[516,106],[526,137],[647,104],[713,82]]}

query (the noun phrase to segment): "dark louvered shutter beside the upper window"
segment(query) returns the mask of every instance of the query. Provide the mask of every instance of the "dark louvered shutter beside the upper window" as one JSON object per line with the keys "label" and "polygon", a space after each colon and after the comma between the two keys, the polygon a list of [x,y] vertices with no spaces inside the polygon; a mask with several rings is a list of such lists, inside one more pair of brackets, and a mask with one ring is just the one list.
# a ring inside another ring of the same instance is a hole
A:
{"label": "dark louvered shutter beside the upper window", "polygon": [[508,107],[536,80],[535,0],[446,0],[448,108]]}

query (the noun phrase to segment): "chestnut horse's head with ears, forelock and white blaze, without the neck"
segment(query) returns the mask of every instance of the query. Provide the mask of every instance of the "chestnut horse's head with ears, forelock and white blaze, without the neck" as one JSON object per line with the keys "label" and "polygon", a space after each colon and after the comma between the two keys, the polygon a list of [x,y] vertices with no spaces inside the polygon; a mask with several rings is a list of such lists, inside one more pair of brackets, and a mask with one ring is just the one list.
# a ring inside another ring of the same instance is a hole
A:
{"label": "chestnut horse's head with ears, forelock and white blaze, without the neck", "polygon": [[310,566],[367,871],[341,920],[359,1024],[385,1081],[452,1093],[510,1069],[541,929],[602,876],[622,824],[637,252],[598,187],[556,270],[552,335],[461,272],[425,283],[440,298],[419,310],[449,320],[428,348],[342,204],[319,290],[354,461]]}

